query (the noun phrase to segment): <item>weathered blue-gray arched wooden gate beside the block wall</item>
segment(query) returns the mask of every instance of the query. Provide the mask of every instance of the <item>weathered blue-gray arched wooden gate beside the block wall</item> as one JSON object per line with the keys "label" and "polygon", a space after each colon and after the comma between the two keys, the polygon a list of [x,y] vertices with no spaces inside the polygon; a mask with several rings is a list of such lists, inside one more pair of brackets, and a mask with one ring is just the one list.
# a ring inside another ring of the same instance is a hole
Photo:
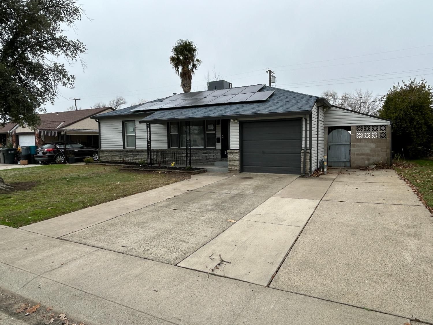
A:
{"label": "weathered blue-gray arched wooden gate beside the block wall", "polygon": [[328,166],[350,167],[350,133],[343,129],[328,134]]}

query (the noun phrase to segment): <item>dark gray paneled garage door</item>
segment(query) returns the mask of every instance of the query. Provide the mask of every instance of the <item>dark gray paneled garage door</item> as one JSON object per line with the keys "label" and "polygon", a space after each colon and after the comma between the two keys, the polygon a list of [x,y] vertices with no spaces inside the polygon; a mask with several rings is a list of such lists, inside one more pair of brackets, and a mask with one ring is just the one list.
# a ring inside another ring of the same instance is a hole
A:
{"label": "dark gray paneled garage door", "polygon": [[301,173],[301,120],[243,122],[242,171]]}

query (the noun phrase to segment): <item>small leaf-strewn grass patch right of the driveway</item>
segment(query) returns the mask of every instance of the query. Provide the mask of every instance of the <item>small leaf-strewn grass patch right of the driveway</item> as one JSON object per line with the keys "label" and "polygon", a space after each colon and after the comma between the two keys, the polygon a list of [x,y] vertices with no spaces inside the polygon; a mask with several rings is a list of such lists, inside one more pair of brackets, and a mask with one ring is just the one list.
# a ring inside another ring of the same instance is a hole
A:
{"label": "small leaf-strewn grass patch right of the driveway", "polygon": [[433,160],[406,160],[397,163],[395,169],[418,189],[427,205],[433,208]]}

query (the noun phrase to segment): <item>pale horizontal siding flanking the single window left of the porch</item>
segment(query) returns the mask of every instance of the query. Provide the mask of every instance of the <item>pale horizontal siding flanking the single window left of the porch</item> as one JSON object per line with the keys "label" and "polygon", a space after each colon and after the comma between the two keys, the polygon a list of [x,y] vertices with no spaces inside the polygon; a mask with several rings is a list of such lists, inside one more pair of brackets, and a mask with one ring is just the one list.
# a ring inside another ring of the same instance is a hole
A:
{"label": "pale horizontal siding flanking the single window left of the porch", "polygon": [[[139,123],[143,117],[136,117],[136,149],[147,149],[146,124]],[[100,119],[101,149],[123,149],[122,121],[120,119]],[[167,149],[167,124],[151,124],[152,149]]]}

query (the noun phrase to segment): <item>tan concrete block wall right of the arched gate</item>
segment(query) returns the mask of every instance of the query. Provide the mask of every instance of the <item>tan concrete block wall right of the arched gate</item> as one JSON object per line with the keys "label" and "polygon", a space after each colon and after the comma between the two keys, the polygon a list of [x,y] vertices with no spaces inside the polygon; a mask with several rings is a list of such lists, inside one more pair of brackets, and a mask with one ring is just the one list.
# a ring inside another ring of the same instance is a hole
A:
{"label": "tan concrete block wall right of the arched gate", "polygon": [[367,167],[375,162],[391,166],[391,125],[386,126],[386,139],[357,139],[356,126],[351,127],[350,167]]}

